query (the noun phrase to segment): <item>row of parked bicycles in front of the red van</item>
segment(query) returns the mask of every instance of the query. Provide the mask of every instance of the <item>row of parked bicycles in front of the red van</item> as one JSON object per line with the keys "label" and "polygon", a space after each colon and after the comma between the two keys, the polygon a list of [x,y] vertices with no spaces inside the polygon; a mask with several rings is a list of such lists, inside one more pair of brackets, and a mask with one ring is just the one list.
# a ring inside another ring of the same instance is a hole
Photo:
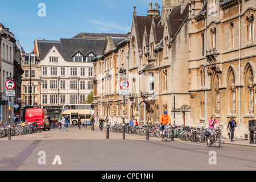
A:
{"label": "row of parked bicycles in front of the red van", "polygon": [[[31,133],[37,133],[36,123],[11,123],[11,136],[25,135]],[[9,123],[3,123],[0,125],[0,138],[8,137],[9,135]]]}

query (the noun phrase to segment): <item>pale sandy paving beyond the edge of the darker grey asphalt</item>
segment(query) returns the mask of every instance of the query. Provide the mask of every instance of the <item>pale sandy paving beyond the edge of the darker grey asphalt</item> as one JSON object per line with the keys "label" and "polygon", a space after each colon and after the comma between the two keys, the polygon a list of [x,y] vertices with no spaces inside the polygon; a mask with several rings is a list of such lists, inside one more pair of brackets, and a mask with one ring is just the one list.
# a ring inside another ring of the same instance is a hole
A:
{"label": "pale sandy paving beyond the edge of the darker grey asphalt", "polygon": [[[104,131],[100,131],[98,127],[95,127],[94,131],[90,130],[90,127],[81,127],[78,129],[77,126],[69,126],[68,131],[61,132],[57,125],[51,127],[51,130],[43,131],[40,133],[33,133],[28,135],[13,136],[11,140],[36,140],[36,139],[107,139],[106,128]],[[114,133],[109,130],[108,139],[123,139],[122,133]],[[8,140],[8,137],[1,138],[0,140]],[[146,140],[146,136],[137,135],[137,134],[125,134],[125,140]],[[149,140],[160,140],[157,137],[149,137]],[[179,139],[175,139],[179,140]],[[183,141],[184,142],[184,141]],[[225,138],[224,144],[234,144],[247,147],[256,147],[256,144],[250,144],[250,140],[244,139],[233,139],[233,142],[230,139]]]}

